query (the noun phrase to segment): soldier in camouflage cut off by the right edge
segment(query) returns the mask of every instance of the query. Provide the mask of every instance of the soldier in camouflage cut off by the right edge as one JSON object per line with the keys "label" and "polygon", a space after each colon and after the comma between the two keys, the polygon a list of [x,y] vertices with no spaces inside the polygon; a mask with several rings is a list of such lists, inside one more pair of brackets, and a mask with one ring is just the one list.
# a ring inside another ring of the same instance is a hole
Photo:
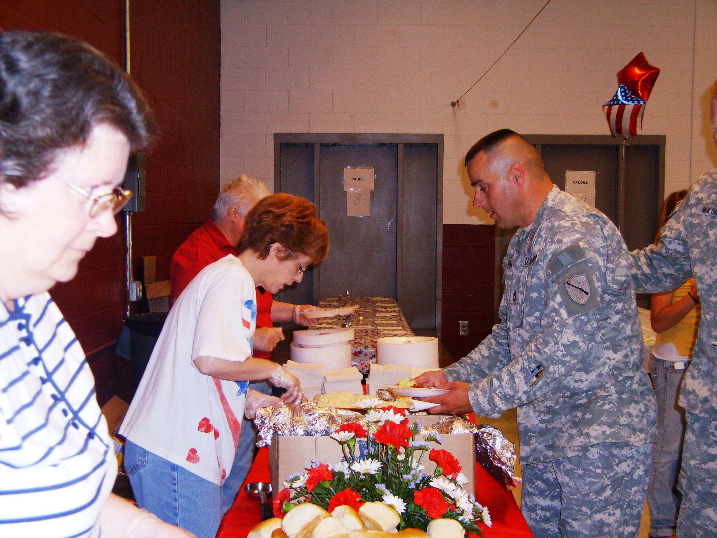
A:
{"label": "soldier in camouflage cut off by the right edge", "polygon": [[[712,127],[717,145],[717,80]],[[702,317],[692,362],[680,387],[687,429],[678,489],[683,494],[677,535],[717,536],[717,169],[690,188],[663,227],[659,244],[630,253],[637,291],[678,288],[695,277]]]}

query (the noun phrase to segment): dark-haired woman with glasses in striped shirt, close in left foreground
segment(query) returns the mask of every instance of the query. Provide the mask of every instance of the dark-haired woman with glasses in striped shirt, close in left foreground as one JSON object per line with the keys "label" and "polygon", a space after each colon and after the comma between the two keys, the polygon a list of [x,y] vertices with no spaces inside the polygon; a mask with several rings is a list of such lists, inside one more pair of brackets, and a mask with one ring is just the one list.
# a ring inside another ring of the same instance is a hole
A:
{"label": "dark-haired woman with glasses in striped shirt, close in left foreground", "polygon": [[76,39],[0,34],[0,536],[188,537],[110,494],[113,440],[48,291],[117,232],[154,126],[129,77]]}

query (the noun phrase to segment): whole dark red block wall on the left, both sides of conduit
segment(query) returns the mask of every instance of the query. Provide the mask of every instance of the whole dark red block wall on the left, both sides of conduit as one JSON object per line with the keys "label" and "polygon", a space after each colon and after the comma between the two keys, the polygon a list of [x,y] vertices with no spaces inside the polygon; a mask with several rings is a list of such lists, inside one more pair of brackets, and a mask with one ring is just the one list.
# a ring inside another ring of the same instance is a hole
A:
{"label": "whole dark red block wall on the left, both sides of conduit", "polygon": [[[124,65],[124,0],[0,0],[0,27],[62,32]],[[147,158],[147,211],[133,226],[135,267],[157,255],[169,278],[177,246],[204,222],[219,189],[219,0],[131,0],[131,75],[161,128]],[[114,354],[125,316],[124,218],[77,277],[52,296],[87,353],[100,404],[127,398],[129,363]],[[138,274],[141,276],[141,274]]]}

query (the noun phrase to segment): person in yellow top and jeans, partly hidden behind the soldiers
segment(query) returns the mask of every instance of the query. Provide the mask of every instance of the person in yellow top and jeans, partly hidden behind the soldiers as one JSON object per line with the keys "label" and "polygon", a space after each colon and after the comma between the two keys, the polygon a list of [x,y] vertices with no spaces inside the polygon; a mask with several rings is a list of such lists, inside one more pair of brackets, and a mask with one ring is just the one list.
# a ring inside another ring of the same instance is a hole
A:
{"label": "person in yellow top and jeans, partly hidden behind the soldiers", "polygon": [[[673,192],[660,213],[660,227],[687,196],[687,190]],[[660,231],[655,245],[660,241]],[[650,377],[657,396],[657,440],[652,446],[652,471],[647,489],[650,505],[650,537],[675,537],[680,493],[677,489],[685,410],[678,404],[680,384],[692,360],[692,349],[700,324],[700,298],[695,279],[675,291],[655,293],[650,303],[650,323],[657,333],[650,357]]]}

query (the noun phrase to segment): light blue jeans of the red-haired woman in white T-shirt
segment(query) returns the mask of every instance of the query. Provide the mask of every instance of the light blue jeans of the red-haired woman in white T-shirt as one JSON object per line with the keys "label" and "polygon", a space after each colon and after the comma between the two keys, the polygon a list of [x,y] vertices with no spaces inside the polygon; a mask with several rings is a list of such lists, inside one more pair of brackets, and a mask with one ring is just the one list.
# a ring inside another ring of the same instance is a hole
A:
{"label": "light blue jeans of the red-haired woman in white T-shirt", "polygon": [[125,445],[125,469],[140,508],[163,522],[214,538],[222,521],[222,488],[132,443]]}

